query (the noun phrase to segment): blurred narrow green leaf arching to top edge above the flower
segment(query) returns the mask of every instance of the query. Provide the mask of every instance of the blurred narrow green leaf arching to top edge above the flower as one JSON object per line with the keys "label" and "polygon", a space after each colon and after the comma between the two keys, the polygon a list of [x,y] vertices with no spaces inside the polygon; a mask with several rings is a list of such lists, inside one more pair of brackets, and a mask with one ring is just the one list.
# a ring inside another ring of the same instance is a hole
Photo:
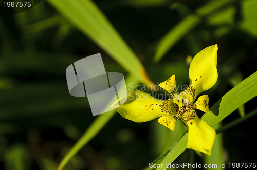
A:
{"label": "blurred narrow green leaf arching to top edge above the flower", "polygon": [[194,14],[186,16],[174,28],[172,28],[158,43],[155,49],[154,62],[159,62],[164,54],[168,52],[183,36],[197,26],[201,19],[214,11],[236,2],[236,0],[214,0],[198,8]]}

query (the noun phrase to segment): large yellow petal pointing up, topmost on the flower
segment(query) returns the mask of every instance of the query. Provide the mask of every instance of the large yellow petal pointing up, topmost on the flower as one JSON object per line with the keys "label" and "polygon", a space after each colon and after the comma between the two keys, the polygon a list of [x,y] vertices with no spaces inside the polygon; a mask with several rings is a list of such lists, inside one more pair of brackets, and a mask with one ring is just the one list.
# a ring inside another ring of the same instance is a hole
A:
{"label": "large yellow petal pointing up, topmost on the flower", "polygon": [[210,89],[217,81],[217,51],[217,44],[209,46],[197,53],[191,62],[190,86],[195,89],[196,96]]}

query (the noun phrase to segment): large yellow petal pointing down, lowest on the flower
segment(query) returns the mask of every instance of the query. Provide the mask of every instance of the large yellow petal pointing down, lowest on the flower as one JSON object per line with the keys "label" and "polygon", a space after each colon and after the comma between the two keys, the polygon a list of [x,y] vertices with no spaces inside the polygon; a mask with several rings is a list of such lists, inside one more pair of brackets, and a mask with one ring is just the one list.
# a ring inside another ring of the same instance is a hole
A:
{"label": "large yellow petal pointing down, lowest on the flower", "polygon": [[216,137],[215,130],[206,122],[200,120],[191,110],[188,114],[192,119],[183,119],[188,127],[188,143],[187,148],[194,149],[207,155],[211,155],[211,149]]}

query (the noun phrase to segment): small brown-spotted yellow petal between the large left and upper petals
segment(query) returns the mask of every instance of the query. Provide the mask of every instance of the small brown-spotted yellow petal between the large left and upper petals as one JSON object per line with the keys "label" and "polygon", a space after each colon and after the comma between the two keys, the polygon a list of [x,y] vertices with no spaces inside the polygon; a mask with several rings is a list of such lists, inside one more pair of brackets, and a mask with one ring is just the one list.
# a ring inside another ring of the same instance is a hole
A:
{"label": "small brown-spotted yellow petal between the large left and upper petals", "polygon": [[174,103],[176,103],[179,107],[183,106],[182,97],[177,92],[175,75],[172,75],[170,79],[160,83],[159,86],[170,93]]}

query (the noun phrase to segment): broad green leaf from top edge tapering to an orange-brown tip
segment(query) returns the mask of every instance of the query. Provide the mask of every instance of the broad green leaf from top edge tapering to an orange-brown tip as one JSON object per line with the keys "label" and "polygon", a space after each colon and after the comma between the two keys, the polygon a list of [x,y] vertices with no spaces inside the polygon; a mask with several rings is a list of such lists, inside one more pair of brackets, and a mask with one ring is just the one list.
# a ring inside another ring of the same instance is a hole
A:
{"label": "broad green leaf from top edge tapering to an orange-brown tip", "polygon": [[48,0],[75,27],[144,84],[153,84],[130,47],[92,1]]}

